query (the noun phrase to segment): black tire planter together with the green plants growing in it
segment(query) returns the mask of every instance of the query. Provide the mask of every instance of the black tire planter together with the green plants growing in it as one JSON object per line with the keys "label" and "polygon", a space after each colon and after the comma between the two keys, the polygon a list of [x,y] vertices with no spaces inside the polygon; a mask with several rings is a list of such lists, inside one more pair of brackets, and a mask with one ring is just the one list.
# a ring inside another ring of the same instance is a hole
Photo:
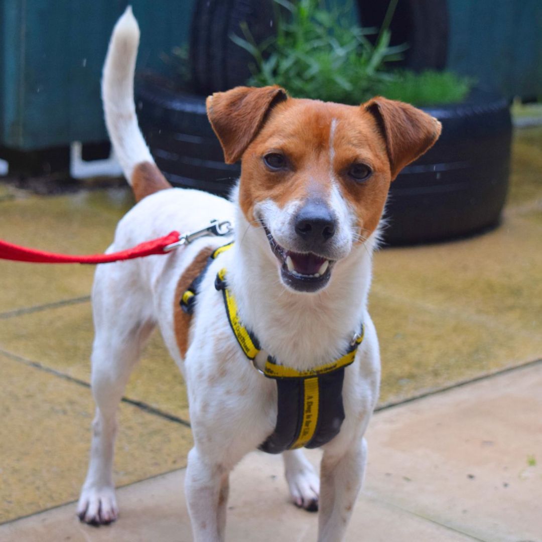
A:
{"label": "black tire planter together with the green plants growing in it", "polygon": [[[433,149],[392,184],[386,207],[387,242],[443,240],[498,224],[511,147],[506,100],[473,88],[472,81],[453,73],[393,68],[408,47],[390,45],[389,24],[397,0],[390,2],[379,29],[353,25],[339,12],[320,7],[317,0],[274,2],[280,9],[266,15],[273,31],[262,33],[258,25],[251,26],[250,14],[234,17],[238,31],[229,32],[228,43],[242,53],[238,64],[245,70],[238,83],[278,84],[295,97],[346,104],[380,94],[421,107],[443,124]],[[186,51],[178,55],[186,57]],[[194,56],[198,54],[192,51],[192,61]],[[199,82],[193,86],[201,88],[209,81],[203,81],[201,65],[198,70]],[[227,79],[216,80],[218,88],[206,88],[207,92],[235,83]],[[137,95],[141,127],[171,182],[226,193],[239,169],[223,163],[205,115],[204,95],[158,86],[148,79],[140,81]]]}

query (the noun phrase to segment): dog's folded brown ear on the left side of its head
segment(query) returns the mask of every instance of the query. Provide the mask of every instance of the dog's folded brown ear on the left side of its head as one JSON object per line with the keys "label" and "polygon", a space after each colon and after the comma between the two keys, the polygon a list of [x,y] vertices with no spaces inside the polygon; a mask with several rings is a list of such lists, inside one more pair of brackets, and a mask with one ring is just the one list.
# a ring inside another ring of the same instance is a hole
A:
{"label": "dog's folded brown ear on the left side of its head", "polygon": [[207,116],[222,145],[225,163],[233,164],[241,158],[269,109],[287,97],[283,88],[272,86],[236,87],[207,98]]}

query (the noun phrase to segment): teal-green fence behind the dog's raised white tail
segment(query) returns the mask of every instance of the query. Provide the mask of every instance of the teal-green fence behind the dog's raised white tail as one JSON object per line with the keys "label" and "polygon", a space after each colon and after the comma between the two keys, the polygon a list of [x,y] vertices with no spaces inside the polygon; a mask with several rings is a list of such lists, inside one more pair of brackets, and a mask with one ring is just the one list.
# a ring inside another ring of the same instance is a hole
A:
{"label": "teal-green fence behind the dog's raised white tail", "polygon": [[[138,68],[188,42],[194,0],[133,0]],[[107,139],[100,76],[125,0],[0,2],[0,145],[37,150]]]}

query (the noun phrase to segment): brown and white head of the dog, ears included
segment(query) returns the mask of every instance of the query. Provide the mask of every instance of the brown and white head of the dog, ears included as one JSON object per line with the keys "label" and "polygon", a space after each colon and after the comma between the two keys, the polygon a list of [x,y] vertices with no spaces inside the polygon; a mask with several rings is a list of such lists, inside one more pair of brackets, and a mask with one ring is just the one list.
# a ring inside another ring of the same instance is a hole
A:
{"label": "brown and white head of the dog, ears included", "polygon": [[215,93],[207,112],[225,162],[242,159],[244,216],[298,292],[324,288],[334,264],[371,236],[391,181],[441,132],[402,102],[346,106],[288,98],[279,87]]}

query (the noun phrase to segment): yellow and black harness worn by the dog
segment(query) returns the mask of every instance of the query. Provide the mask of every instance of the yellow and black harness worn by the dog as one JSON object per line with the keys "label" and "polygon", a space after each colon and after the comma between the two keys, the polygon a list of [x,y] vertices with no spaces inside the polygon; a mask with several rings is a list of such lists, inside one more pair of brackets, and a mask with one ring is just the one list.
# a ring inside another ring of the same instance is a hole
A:
{"label": "yellow and black harness worn by the dog", "polygon": [[[183,293],[180,305],[184,311],[192,313],[193,303],[199,284],[210,263],[233,243],[217,248],[210,256],[202,273]],[[255,363],[261,351],[259,341],[241,322],[237,303],[227,287],[226,270],[221,269],[215,279],[215,287],[221,291],[231,330],[245,356]],[[343,406],[344,369],[353,363],[359,345],[363,341],[363,325],[354,335],[346,352],[331,363],[298,371],[276,362],[272,356],[260,371],[267,378],[273,378],[278,392],[278,410],[275,430],[269,435],[260,449],[270,454],[279,454],[294,448],[318,448],[329,442],[340,431],[345,413]]]}

